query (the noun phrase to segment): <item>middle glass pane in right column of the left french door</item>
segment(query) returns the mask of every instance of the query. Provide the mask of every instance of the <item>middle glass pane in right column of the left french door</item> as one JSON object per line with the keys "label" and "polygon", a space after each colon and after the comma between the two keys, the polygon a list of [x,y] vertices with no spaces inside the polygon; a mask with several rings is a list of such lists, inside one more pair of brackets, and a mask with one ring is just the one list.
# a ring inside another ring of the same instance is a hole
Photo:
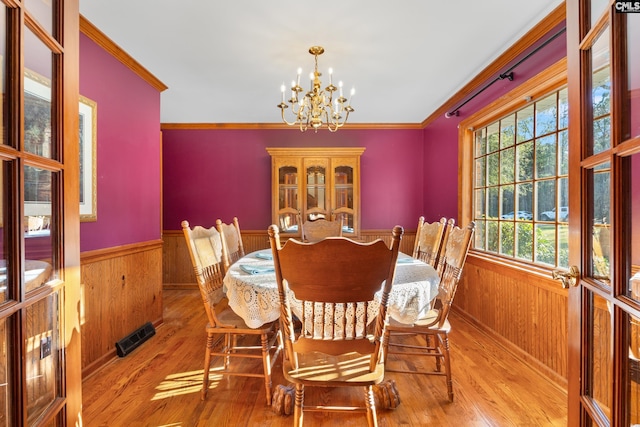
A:
{"label": "middle glass pane in right column of the left french door", "polygon": [[46,283],[52,272],[52,191],[51,171],[24,168],[24,245],[25,286],[30,291]]}

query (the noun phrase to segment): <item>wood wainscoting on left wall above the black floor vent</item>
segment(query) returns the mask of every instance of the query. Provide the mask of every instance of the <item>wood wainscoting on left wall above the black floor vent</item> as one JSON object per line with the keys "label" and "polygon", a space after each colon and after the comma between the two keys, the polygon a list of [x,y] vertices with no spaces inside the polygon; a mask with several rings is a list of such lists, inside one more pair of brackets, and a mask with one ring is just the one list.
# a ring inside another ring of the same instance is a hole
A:
{"label": "wood wainscoting on left wall above the black floor vent", "polygon": [[147,322],[162,323],[162,241],[80,256],[82,374],[116,357],[115,343]]}

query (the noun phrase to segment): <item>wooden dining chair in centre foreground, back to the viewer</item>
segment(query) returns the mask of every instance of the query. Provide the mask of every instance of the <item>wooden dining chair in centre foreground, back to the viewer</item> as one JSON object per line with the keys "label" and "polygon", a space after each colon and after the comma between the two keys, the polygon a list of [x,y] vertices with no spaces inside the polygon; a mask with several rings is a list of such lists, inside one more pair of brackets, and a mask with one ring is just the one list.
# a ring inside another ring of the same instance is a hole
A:
{"label": "wooden dining chair in centre foreground, back to the viewer", "polygon": [[[384,379],[381,338],[403,232],[394,227],[390,247],[380,239],[365,244],[344,237],[289,239],[282,246],[278,227],[269,227],[285,346],[282,368],[295,385],[294,425],[302,426],[305,411],[356,411],[377,426],[373,386]],[[377,292],[379,309],[373,310]],[[302,325],[295,332],[293,310]],[[310,405],[304,401],[306,386],[362,387],[365,404]]]}

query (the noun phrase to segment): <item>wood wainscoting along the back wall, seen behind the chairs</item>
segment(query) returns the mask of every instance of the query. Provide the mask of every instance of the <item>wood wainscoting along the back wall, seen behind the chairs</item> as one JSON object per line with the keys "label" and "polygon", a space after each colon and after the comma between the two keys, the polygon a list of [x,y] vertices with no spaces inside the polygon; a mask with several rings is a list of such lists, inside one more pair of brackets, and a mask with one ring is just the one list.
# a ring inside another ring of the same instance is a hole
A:
{"label": "wood wainscoting along the back wall, seen behind the chairs", "polygon": [[[400,252],[411,254],[416,230],[405,230],[400,242]],[[197,289],[196,277],[193,273],[189,252],[182,230],[165,230],[162,238],[162,281],[165,289]],[[389,230],[365,230],[360,233],[359,240],[371,242],[382,239],[387,244],[391,241]],[[269,248],[267,230],[242,230],[242,244],[245,253]]]}

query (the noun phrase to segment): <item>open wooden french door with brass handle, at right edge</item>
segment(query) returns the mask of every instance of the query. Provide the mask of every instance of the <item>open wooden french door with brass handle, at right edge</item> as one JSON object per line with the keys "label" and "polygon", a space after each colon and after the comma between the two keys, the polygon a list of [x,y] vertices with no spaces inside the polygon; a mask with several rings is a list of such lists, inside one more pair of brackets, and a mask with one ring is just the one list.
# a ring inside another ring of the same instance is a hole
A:
{"label": "open wooden french door with brass handle, at right edge", "polygon": [[640,424],[640,3],[566,4],[568,419],[629,427]]}

